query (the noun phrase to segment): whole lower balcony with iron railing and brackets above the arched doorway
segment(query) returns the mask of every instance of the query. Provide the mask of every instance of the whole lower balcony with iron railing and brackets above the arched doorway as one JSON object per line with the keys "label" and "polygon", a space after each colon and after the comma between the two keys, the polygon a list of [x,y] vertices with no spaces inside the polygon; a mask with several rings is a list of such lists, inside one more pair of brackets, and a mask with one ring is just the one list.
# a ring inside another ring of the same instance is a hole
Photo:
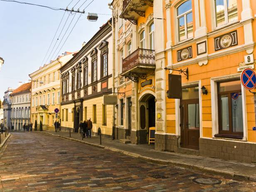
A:
{"label": "whole lower balcony with iron railing and brackets above the arched doorway", "polygon": [[138,48],[123,59],[123,73],[121,76],[138,82],[138,78],[145,79],[147,73],[155,73],[154,50]]}

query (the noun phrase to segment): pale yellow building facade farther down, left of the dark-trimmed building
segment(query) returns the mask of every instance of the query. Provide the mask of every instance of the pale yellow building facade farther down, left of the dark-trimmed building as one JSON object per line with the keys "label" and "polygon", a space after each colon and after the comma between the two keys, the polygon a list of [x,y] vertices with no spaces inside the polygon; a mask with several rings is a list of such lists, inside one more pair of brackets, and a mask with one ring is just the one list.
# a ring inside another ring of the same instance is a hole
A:
{"label": "pale yellow building facade farther down, left of the dark-trimmed building", "polygon": [[60,112],[55,114],[54,109],[60,110],[60,72],[59,68],[64,66],[73,57],[73,53],[65,52],[57,60],[45,64],[39,70],[31,73],[31,122],[33,129],[37,124],[39,131],[40,122],[43,130],[55,130],[54,122],[61,120]]}

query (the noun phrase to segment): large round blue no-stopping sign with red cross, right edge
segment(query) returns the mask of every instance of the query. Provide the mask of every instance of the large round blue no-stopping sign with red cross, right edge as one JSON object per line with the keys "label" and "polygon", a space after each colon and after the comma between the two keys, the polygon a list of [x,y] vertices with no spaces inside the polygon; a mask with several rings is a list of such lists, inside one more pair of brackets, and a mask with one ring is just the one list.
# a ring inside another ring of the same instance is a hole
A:
{"label": "large round blue no-stopping sign with red cross, right edge", "polygon": [[253,90],[256,87],[256,74],[254,70],[248,68],[241,73],[241,83],[244,88]]}

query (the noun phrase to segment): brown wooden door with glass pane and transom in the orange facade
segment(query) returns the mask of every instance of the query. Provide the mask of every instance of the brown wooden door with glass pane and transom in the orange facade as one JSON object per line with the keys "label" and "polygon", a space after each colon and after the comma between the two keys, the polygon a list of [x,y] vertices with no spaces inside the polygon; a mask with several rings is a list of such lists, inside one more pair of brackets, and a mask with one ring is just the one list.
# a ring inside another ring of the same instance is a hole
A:
{"label": "brown wooden door with glass pane and transom in the orange facade", "polygon": [[181,142],[183,148],[199,149],[199,88],[182,89],[181,114]]}

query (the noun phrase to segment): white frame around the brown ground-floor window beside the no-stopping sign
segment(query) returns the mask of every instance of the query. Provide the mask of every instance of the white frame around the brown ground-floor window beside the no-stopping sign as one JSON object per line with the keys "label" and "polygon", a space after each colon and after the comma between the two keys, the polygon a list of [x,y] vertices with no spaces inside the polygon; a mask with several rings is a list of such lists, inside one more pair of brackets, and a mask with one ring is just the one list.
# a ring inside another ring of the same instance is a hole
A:
{"label": "white frame around the brown ground-floor window beside the no-stopping sign", "polygon": [[[219,116],[218,116],[218,83],[227,80],[239,80],[240,73],[233,75],[226,75],[222,77],[211,78],[211,98],[212,98],[212,138],[215,134],[219,133]],[[246,113],[246,90],[241,84],[242,93],[242,105],[243,105],[243,128],[244,137],[243,141],[247,141],[248,131],[247,131],[247,113]],[[225,139],[225,138],[222,138]]]}

